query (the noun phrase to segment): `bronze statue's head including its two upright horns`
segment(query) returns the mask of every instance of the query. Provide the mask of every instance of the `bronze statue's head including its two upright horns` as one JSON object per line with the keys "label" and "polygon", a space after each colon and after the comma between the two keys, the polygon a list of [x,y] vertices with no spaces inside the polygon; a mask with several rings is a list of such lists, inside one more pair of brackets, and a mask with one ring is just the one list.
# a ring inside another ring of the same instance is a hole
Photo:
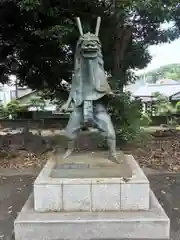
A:
{"label": "bronze statue's head including its two upright horns", "polygon": [[98,37],[100,23],[101,18],[98,17],[95,33],[88,32],[83,34],[81,21],[77,18],[77,25],[80,32],[77,48],[80,50],[80,54],[84,58],[96,58],[98,56],[98,52],[101,48],[101,43]]}

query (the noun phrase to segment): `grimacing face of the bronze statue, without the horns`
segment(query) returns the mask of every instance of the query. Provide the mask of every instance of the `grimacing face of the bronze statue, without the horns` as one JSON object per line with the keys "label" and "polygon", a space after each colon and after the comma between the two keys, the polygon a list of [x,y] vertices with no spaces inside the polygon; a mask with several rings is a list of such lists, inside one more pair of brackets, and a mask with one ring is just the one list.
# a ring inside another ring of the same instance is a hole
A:
{"label": "grimacing face of the bronze statue, without the horns", "polygon": [[80,38],[81,54],[84,58],[96,58],[100,48],[98,37],[92,33],[86,33]]}

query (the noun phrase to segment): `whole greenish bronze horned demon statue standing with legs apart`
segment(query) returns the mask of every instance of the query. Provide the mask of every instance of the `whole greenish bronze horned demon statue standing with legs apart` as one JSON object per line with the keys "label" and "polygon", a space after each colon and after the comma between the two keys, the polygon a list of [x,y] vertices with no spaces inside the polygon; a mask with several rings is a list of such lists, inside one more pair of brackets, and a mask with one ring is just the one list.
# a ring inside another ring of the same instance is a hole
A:
{"label": "whole greenish bronze horned demon statue standing with legs apart", "polygon": [[77,25],[80,38],[75,53],[75,69],[72,77],[71,91],[67,102],[60,111],[66,111],[71,102],[74,105],[65,134],[69,139],[64,158],[74,150],[74,142],[82,126],[93,125],[107,139],[109,159],[116,159],[116,135],[111,118],[106,111],[104,97],[113,94],[104,71],[101,43],[98,38],[101,18],[97,18],[95,34],[83,34],[80,19]]}

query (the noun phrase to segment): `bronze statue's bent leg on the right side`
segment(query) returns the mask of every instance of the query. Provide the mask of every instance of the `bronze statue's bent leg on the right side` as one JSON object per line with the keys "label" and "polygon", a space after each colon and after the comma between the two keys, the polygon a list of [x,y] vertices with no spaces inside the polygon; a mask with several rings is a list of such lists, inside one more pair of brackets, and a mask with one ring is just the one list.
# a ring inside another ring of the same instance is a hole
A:
{"label": "bronze statue's bent leg on the right side", "polygon": [[103,104],[94,104],[94,122],[100,134],[107,139],[109,159],[113,162],[119,163],[116,156],[116,134],[111,118]]}

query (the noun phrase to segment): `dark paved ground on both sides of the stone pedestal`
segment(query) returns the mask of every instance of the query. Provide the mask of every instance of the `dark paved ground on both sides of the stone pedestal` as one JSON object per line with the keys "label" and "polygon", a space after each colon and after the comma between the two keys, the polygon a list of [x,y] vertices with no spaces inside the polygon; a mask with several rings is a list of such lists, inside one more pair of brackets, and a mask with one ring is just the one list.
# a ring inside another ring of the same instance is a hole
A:
{"label": "dark paved ground on both sides of the stone pedestal", "polygon": [[[32,191],[34,175],[0,176],[0,240],[13,239],[13,222]],[[180,173],[149,175],[152,190],[171,219],[171,240],[180,239]]]}

